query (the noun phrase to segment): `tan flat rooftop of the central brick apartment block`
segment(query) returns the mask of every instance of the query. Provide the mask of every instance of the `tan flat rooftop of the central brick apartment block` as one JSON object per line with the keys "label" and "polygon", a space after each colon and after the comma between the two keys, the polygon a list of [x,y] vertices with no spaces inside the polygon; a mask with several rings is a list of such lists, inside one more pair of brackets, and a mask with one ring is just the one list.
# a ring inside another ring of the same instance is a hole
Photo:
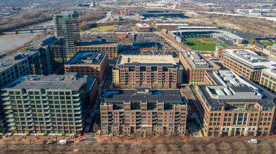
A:
{"label": "tan flat rooftop of the central brick apartment block", "polygon": [[116,65],[118,66],[131,63],[176,65],[172,55],[119,55]]}

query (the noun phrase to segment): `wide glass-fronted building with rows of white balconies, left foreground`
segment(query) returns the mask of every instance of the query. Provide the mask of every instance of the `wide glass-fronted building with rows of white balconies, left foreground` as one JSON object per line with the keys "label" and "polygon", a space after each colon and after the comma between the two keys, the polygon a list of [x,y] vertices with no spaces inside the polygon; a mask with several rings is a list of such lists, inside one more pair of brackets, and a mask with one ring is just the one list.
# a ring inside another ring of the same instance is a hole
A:
{"label": "wide glass-fronted building with rows of white balconies, left foreground", "polygon": [[97,90],[96,79],[21,76],[2,89],[8,130],[15,134],[81,134]]}

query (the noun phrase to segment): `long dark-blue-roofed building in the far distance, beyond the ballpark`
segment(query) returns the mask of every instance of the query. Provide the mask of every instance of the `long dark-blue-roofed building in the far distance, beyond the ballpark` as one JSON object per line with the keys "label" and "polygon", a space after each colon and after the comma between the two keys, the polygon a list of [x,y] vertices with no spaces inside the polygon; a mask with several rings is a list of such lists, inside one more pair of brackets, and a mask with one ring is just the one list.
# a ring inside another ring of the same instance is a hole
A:
{"label": "long dark-blue-roofed building in the far distance, beyond the ballpark", "polygon": [[149,11],[138,11],[139,15],[145,18],[150,17],[165,17],[165,18],[184,18],[184,13],[170,10],[149,10]]}

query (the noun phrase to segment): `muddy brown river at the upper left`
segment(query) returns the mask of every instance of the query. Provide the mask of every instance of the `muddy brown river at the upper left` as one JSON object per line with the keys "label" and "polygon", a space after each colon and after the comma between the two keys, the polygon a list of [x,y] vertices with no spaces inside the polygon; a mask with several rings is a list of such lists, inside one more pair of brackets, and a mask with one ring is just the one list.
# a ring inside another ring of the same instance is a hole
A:
{"label": "muddy brown river at the upper left", "polygon": [[[38,27],[43,26],[46,27],[48,25],[54,25],[53,20],[49,20],[46,22],[41,22],[39,24],[30,25],[27,27]],[[15,32],[5,33],[3,35],[0,35],[0,54],[3,52],[6,52],[8,50],[12,50],[13,48],[16,48],[18,46],[23,45],[24,43],[27,43],[27,41],[32,40],[39,34],[39,31],[34,31],[34,33],[20,31],[19,34],[15,34]]]}

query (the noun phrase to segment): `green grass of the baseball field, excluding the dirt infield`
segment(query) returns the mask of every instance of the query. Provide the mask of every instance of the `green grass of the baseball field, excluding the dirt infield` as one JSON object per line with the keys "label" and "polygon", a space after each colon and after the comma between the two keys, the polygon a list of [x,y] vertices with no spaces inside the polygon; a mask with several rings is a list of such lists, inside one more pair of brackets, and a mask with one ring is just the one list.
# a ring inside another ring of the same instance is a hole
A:
{"label": "green grass of the baseball field, excluding the dirt infield", "polygon": [[[203,38],[203,41],[205,41],[204,39],[206,39],[206,41],[209,41],[209,42],[214,42],[215,40],[214,38]],[[196,38],[188,38],[186,39],[186,41],[183,41],[182,43],[186,43],[194,50],[215,50],[215,46],[216,46],[216,44],[202,43],[202,42],[196,41]],[[226,47],[225,45],[222,45],[222,46],[224,48]]]}

